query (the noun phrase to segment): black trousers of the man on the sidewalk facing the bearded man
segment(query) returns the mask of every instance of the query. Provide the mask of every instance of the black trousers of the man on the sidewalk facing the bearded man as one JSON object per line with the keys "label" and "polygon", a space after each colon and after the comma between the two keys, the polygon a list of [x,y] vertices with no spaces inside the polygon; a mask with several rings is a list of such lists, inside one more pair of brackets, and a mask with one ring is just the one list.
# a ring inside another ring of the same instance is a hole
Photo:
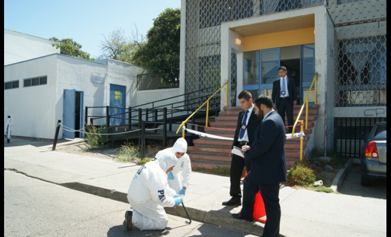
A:
{"label": "black trousers of the man on the sidewalk facing the bearded man", "polygon": [[242,191],[240,190],[240,178],[242,177],[244,167],[246,167],[248,173],[250,170],[250,165],[245,164],[244,158],[237,155],[232,155],[230,170],[230,195],[232,198],[237,199],[238,201],[240,201],[242,197]]}

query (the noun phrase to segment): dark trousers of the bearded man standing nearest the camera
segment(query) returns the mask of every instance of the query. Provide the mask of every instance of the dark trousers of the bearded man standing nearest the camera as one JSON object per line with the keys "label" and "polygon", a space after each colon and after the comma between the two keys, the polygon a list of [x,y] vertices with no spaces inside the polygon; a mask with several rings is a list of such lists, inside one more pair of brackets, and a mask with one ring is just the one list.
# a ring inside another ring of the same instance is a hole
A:
{"label": "dark trousers of the bearded man standing nearest the camera", "polygon": [[258,191],[261,191],[266,211],[266,223],[262,236],[277,237],[280,234],[281,219],[280,198],[278,198],[280,184],[257,184],[253,182],[250,176],[244,179],[243,202],[240,215],[245,218],[253,218],[255,195]]}

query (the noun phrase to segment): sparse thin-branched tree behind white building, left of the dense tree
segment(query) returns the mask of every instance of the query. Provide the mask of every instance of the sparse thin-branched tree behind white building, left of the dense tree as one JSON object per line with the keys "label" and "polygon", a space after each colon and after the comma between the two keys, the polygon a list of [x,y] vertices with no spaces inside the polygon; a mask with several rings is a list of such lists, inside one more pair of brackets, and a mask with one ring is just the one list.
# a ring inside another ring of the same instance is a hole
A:
{"label": "sparse thin-branched tree behind white building, left of the dense tree", "polygon": [[108,39],[106,36],[101,41],[101,55],[99,58],[111,58],[114,60],[132,63],[132,57],[137,47],[143,43],[143,36],[141,41],[138,41],[137,27],[135,32],[132,30],[133,40],[127,40],[123,29],[119,28],[111,32]]}

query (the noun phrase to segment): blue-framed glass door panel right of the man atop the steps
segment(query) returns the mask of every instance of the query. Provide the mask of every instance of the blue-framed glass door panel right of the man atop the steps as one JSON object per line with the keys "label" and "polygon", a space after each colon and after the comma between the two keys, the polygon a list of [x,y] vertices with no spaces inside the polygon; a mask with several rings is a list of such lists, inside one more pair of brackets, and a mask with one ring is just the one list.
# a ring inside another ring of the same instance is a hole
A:
{"label": "blue-framed glass door panel right of the man atop the steps", "polygon": [[[315,76],[315,44],[301,45],[300,53],[300,67],[301,67],[301,86],[300,86],[300,101],[305,99],[308,90],[310,89],[312,80]],[[315,101],[314,87],[309,96],[310,104]]]}

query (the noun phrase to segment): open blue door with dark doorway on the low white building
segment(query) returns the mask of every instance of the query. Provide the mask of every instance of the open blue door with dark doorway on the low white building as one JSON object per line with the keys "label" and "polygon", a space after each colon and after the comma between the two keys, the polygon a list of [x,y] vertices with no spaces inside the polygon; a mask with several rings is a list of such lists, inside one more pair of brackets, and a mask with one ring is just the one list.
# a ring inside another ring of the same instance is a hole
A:
{"label": "open blue door with dark doorway on the low white building", "polygon": [[83,92],[64,90],[63,125],[63,138],[84,137],[83,132],[77,131],[83,127]]}

